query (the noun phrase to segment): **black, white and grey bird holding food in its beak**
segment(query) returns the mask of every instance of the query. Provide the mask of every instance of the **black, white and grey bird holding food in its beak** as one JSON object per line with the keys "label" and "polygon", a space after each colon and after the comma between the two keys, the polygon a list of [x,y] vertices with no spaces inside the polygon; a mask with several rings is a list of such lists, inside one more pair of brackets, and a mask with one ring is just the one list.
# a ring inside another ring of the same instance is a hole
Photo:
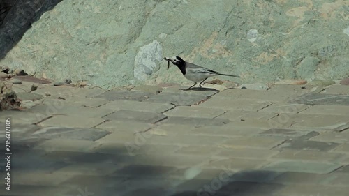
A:
{"label": "black, white and grey bird holding food in its beak", "polygon": [[[207,68],[203,68],[201,66],[195,65],[193,63],[188,63],[181,59],[179,56],[173,56],[170,58],[163,58],[166,61],[168,61],[168,68],[170,67],[170,62],[176,65],[179,70],[181,70],[181,73],[186,77],[186,79],[191,80],[195,82],[193,86],[198,84],[197,82],[200,82],[199,86],[201,88],[202,82],[205,82],[207,78],[215,76],[215,75],[225,75],[225,76],[231,76],[231,77],[239,77],[239,75],[229,75],[229,74],[223,74],[223,73],[218,73],[214,70],[210,70]],[[191,89],[193,86],[190,86],[187,90]]]}

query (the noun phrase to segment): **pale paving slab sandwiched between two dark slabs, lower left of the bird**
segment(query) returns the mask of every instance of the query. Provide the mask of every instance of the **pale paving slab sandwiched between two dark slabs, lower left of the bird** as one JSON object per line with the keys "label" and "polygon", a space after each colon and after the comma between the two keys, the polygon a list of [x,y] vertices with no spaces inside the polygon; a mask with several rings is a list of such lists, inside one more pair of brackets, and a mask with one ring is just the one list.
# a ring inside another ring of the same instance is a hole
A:
{"label": "pale paving slab sandwiched between two dark slabs, lower left of the bird", "polygon": [[138,112],[155,112],[163,113],[174,108],[174,105],[169,103],[151,103],[151,102],[140,102],[134,100],[113,100],[110,103],[102,105],[103,109],[110,109],[113,111],[117,110],[132,110]]}

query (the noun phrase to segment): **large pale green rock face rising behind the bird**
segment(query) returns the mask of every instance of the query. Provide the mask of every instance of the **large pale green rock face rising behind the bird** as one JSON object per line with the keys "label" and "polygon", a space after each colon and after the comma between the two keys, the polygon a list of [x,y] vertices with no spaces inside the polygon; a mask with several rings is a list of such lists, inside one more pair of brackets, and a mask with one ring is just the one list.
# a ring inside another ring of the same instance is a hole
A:
{"label": "large pale green rock face rising behind the bird", "polygon": [[0,66],[103,88],[186,82],[162,61],[177,55],[241,75],[238,82],[341,80],[349,74],[348,20],[343,0],[64,0]]}

